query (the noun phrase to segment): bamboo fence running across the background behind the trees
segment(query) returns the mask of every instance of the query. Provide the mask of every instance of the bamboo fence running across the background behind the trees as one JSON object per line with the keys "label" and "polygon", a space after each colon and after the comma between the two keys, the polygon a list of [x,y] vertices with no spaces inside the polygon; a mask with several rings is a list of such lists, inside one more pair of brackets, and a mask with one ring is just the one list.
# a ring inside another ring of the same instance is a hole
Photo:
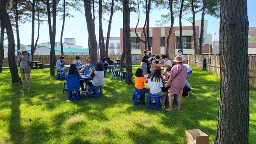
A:
{"label": "bamboo fence running across the background behind the trees", "polygon": [[[58,59],[61,55],[56,55]],[[65,61],[67,63],[73,63],[73,60],[76,59],[76,56],[80,57],[82,63],[86,62],[87,58],[90,58],[90,55],[65,55]],[[133,55],[132,55],[133,56]],[[137,60],[132,62],[132,64],[140,64],[143,55],[135,55]],[[176,55],[169,55],[169,60],[174,60]],[[218,77],[220,76],[220,63],[218,55],[184,55],[187,61],[187,64],[194,65],[196,67],[201,68],[202,58],[210,58],[210,63],[206,64],[205,69],[208,72],[216,74]],[[17,57],[17,56],[16,56]],[[121,59],[121,55],[109,55],[109,57],[114,61]],[[98,55],[98,60],[100,56]],[[50,63],[50,55],[35,55],[34,61],[40,61],[43,64]],[[8,58],[3,59],[3,67],[8,67]],[[249,56],[249,86],[252,88],[256,88],[256,56]]]}

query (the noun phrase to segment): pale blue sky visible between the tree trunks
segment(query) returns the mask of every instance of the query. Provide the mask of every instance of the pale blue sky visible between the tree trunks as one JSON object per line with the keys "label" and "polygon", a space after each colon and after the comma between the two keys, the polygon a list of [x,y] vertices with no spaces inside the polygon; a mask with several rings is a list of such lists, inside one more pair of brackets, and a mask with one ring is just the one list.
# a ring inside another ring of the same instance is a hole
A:
{"label": "pale blue sky visible between the tree trunks", "polygon": [[[256,27],[256,16],[255,16],[255,8],[256,0],[247,0],[247,12],[248,12],[248,19],[249,19],[249,27]],[[167,10],[154,10],[150,13],[150,26],[156,26],[155,20],[160,20],[161,14],[166,14]],[[88,32],[87,26],[85,21],[85,16],[81,12],[71,11],[71,14],[74,15],[74,18],[66,18],[65,27],[64,27],[64,35],[63,38],[76,38],[76,45],[83,46],[83,48],[87,48],[88,43]],[[131,13],[131,24],[130,27],[135,27],[137,24],[137,17],[138,15],[135,13]],[[106,16],[106,19],[109,17]],[[60,42],[60,34],[61,34],[61,26],[62,21],[59,20],[60,18],[57,17],[57,25],[56,25],[56,42]],[[144,14],[140,15],[140,23],[139,27],[143,27],[145,20]],[[196,15],[196,20],[201,20],[201,13]],[[205,15],[205,20],[208,20],[208,30],[207,33],[216,32],[215,40],[218,40],[219,37],[219,19],[215,17],[211,17],[209,15]],[[104,36],[107,35],[108,23],[102,20],[102,26],[104,31]],[[98,20],[96,20],[96,38],[99,39],[99,24]],[[183,26],[189,25],[189,22],[183,20]],[[168,26],[168,25],[166,25]],[[178,18],[175,19],[174,26],[179,26]],[[111,37],[119,37],[120,36],[120,28],[122,27],[122,13],[115,12],[113,15],[112,26],[111,26]],[[37,28],[35,28],[37,30]],[[20,43],[22,44],[31,44],[31,23],[27,22],[25,24],[20,24]],[[35,36],[37,35],[37,31]],[[15,34],[16,38],[16,34]],[[35,37],[36,39],[36,37]],[[212,36],[212,40],[214,40],[214,36]],[[64,41],[64,39],[63,39]],[[48,24],[45,22],[40,26],[40,37],[38,43],[46,43],[49,42],[49,29]],[[7,40],[5,44],[7,44]],[[16,42],[15,42],[16,43]]]}

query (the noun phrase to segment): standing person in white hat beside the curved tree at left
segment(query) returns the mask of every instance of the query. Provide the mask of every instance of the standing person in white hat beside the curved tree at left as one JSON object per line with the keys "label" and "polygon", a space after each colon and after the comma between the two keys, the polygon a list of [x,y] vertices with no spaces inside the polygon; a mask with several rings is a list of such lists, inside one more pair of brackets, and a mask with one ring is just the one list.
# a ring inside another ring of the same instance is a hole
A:
{"label": "standing person in white hat beside the curved tree at left", "polygon": [[30,63],[32,62],[32,55],[27,52],[28,49],[26,49],[26,46],[20,46],[19,52],[21,52],[19,56],[18,63],[20,63],[20,74],[22,78],[22,85],[23,89],[26,90],[26,78],[28,79],[29,88],[28,90],[31,90],[31,78],[30,78]]}

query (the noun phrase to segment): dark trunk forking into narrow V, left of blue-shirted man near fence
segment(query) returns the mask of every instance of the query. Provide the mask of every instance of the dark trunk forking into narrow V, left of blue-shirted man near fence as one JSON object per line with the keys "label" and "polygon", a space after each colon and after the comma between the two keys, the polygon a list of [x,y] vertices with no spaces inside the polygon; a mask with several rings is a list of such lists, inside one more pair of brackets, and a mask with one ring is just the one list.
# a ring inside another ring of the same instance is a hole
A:
{"label": "dark trunk forking into narrow V, left of blue-shirted man near fence", "polygon": [[48,17],[48,27],[49,27],[49,37],[51,43],[50,51],[50,75],[55,75],[54,66],[56,65],[56,55],[55,55],[55,35],[56,35],[56,0],[52,0],[52,23],[51,23],[51,11],[50,3],[47,0],[47,17]]}

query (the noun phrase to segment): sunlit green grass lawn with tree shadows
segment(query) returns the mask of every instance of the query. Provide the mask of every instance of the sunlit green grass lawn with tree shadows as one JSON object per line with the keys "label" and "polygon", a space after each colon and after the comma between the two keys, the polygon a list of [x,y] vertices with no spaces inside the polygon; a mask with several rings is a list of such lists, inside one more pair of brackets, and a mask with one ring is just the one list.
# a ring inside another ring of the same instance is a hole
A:
{"label": "sunlit green grass lawn with tree shadows", "polygon": [[[138,67],[134,65],[134,74]],[[67,92],[62,93],[64,81],[50,77],[49,68],[32,69],[32,91],[20,91],[22,84],[10,84],[11,74],[8,69],[3,70],[0,143],[186,144],[185,130],[200,129],[213,144],[218,122],[219,78],[192,68],[193,73],[187,79],[192,87],[190,96],[183,98],[181,111],[172,112],[146,109],[146,104],[134,106],[134,84],[109,78],[108,72],[102,97],[81,95],[80,101],[67,103]],[[256,144],[256,89],[250,89],[249,143]]]}

